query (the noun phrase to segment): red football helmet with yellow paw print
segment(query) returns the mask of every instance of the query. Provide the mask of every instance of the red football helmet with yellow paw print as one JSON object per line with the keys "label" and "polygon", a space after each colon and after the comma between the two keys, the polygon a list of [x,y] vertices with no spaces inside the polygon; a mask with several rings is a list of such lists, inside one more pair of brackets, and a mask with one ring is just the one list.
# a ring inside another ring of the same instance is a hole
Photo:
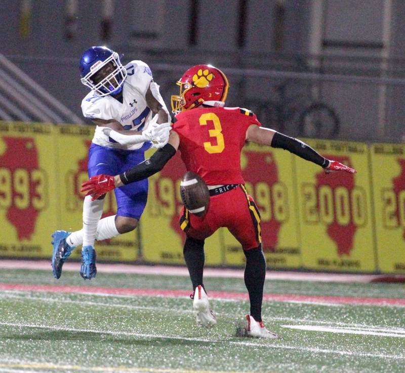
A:
{"label": "red football helmet with yellow paw print", "polygon": [[177,85],[180,95],[172,96],[173,113],[197,107],[204,101],[225,101],[229,88],[225,74],[211,65],[190,67]]}

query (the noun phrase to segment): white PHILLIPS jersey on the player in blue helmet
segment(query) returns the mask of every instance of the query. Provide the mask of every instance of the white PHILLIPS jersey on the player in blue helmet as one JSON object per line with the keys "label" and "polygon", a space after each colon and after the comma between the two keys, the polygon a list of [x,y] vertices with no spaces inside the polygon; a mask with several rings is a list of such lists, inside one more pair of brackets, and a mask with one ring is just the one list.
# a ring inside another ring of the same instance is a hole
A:
{"label": "white PHILLIPS jersey on the player in blue helmet", "polygon": [[[145,98],[152,81],[152,72],[142,61],[131,61],[126,65],[126,69],[128,75],[123,85],[123,103],[110,95],[100,97],[94,91],[90,91],[82,101],[82,111],[86,118],[115,119],[125,130],[141,131],[147,128],[153,115]],[[106,136],[99,126],[96,127],[92,142],[124,150],[136,150],[143,145],[143,142],[121,145]]]}

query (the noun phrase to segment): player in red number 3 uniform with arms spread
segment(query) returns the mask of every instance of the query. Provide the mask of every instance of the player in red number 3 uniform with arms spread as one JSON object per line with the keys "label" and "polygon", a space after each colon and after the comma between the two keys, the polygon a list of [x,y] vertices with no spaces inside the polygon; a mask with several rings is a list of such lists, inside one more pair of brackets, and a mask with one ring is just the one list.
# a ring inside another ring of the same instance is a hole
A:
{"label": "player in red number 3 uniform with arms spread", "polygon": [[[204,240],[226,227],[240,242],[246,256],[245,284],[250,298],[246,333],[253,337],[277,338],[262,322],[261,307],[266,262],[262,251],[260,213],[244,186],[240,167],[241,149],[247,141],[284,148],[331,171],[356,172],[328,160],[300,140],[262,128],[252,111],[224,107],[228,93],[225,74],[211,65],[189,68],[177,82],[180,94],[172,96],[176,114],[169,143],[150,159],[116,176],[97,175],[83,183],[82,191],[93,198],[109,190],[141,180],[160,171],[177,150],[187,171],[198,174],[210,190],[207,213],[198,217],[183,208],[180,225],[186,234],[184,258],[194,290],[193,309],[197,325],[211,326],[216,319],[209,307],[203,284]],[[114,138],[113,131],[110,136]],[[265,170],[263,170],[265,172]]]}

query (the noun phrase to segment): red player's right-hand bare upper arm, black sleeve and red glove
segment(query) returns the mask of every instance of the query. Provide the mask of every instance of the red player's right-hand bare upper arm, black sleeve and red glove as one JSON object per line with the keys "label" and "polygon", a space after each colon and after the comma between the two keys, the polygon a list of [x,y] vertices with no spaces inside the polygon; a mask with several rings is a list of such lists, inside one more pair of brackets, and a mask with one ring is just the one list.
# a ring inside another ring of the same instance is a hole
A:
{"label": "red player's right-hand bare upper arm, black sleeve and red glove", "polygon": [[246,139],[261,145],[270,145],[272,147],[279,147],[288,150],[306,161],[313,162],[322,168],[325,168],[327,173],[333,171],[345,171],[348,173],[356,172],[353,168],[345,166],[340,162],[322,157],[305,142],[268,128],[251,125],[246,131]]}

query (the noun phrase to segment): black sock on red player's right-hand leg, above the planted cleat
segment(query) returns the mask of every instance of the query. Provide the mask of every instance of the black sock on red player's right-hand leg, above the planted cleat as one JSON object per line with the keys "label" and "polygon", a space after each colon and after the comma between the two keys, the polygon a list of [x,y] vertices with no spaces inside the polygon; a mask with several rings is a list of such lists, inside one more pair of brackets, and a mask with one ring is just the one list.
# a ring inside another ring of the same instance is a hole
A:
{"label": "black sock on red player's right-hand leg, above the planted cleat", "polygon": [[244,251],[246,256],[245,285],[249,292],[250,314],[262,321],[263,287],[266,277],[266,259],[261,246]]}

